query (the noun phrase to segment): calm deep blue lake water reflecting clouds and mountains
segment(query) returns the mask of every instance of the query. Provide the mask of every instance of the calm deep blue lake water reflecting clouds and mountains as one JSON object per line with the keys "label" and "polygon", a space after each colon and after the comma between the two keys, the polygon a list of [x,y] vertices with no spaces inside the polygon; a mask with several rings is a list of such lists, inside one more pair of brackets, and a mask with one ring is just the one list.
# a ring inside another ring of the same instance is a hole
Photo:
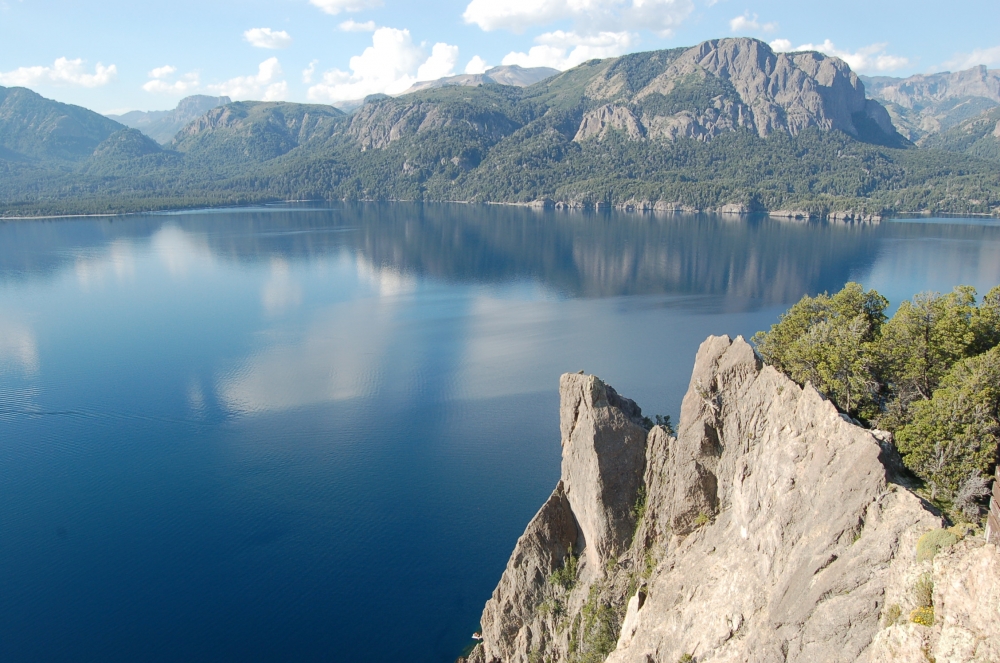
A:
{"label": "calm deep blue lake water reflecting clouds and mountains", "polygon": [[558,377],[673,414],[698,344],[1000,226],[475,206],[0,224],[0,661],[450,662],[559,475]]}

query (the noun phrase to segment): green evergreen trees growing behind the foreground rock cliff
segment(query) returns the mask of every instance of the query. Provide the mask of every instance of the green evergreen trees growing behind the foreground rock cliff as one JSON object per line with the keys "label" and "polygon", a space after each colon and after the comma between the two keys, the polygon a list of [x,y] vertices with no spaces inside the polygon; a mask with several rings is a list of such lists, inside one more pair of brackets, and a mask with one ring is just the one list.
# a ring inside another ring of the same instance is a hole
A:
{"label": "green evergreen trees growing behind the foreground rock cliff", "polygon": [[796,382],[894,432],[931,498],[975,517],[1000,443],[1000,286],[978,304],[969,286],[922,293],[888,320],[887,306],[848,283],[803,297],[753,340]]}

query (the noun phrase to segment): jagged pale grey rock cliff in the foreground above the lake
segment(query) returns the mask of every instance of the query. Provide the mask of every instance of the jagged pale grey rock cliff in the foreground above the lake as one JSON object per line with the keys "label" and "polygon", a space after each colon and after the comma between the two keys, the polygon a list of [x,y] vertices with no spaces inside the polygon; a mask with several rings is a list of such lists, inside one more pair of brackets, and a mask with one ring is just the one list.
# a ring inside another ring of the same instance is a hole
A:
{"label": "jagged pale grey rock cliff in the foreground above the lake", "polygon": [[[676,438],[595,377],[563,376],[560,396],[562,481],[470,662],[998,660],[996,547],[918,563],[942,523],[890,480],[886,435],[742,338],[702,344]],[[929,572],[936,626],[905,619]]]}

